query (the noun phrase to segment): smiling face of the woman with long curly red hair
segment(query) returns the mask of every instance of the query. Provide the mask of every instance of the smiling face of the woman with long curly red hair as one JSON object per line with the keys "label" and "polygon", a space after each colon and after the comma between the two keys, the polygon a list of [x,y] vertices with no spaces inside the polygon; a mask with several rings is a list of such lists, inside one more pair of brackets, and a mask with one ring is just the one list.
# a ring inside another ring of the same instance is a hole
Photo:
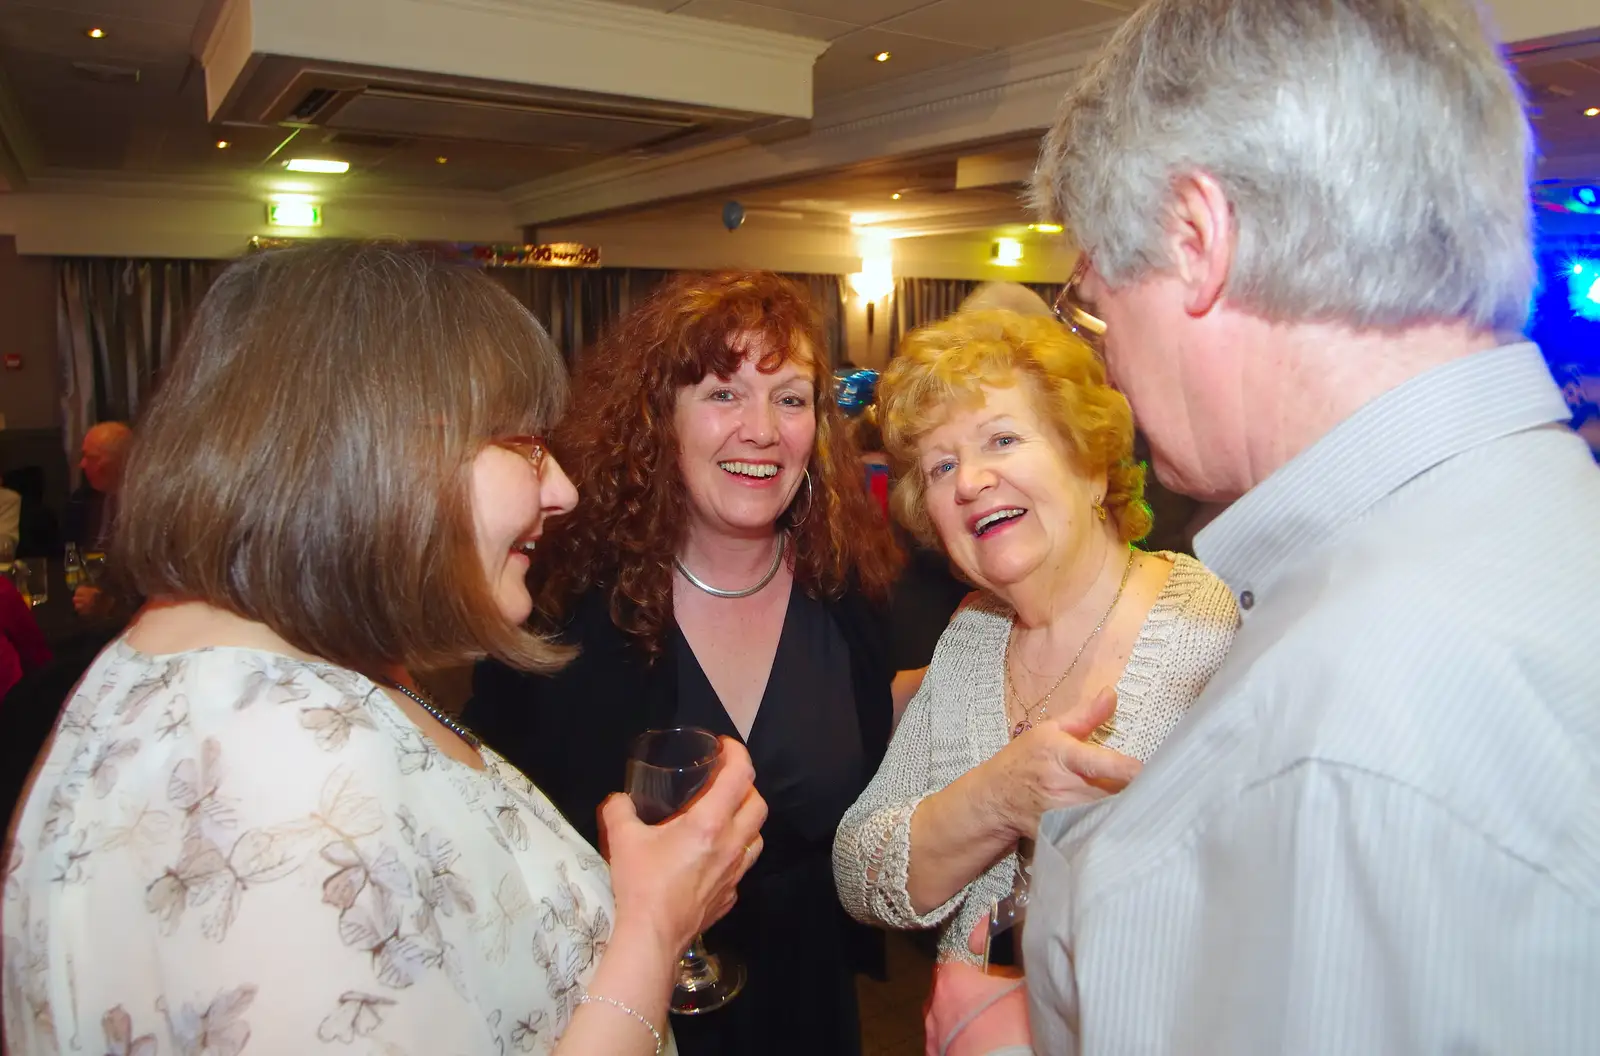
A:
{"label": "smiling face of the woman with long curly red hair", "polygon": [[730,378],[706,374],[678,390],[678,466],[694,530],[754,536],[774,531],[800,488],[816,442],[810,347],[771,373],[749,344]]}

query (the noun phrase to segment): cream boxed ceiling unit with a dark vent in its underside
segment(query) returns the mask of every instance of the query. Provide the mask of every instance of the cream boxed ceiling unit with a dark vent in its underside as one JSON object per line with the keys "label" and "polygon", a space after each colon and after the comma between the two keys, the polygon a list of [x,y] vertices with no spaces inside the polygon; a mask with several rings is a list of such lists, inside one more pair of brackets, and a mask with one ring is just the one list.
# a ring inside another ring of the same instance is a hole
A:
{"label": "cream boxed ceiling unit with a dark vent in its underside", "polygon": [[600,0],[219,0],[213,122],[659,150],[811,115],[819,40]]}

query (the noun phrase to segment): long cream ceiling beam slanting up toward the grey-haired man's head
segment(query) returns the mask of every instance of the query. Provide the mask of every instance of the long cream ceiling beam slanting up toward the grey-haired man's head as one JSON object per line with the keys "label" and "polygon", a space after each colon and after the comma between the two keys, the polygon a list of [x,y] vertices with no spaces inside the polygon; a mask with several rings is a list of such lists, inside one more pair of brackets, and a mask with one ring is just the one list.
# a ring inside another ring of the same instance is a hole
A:
{"label": "long cream ceiling beam slanting up toward the grey-haired man's head", "polygon": [[882,157],[1050,126],[1061,96],[1115,26],[1061,34],[840,96],[803,134],[730,138],[661,157],[586,165],[507,192],[517,221],[550,224],[774,182]]}

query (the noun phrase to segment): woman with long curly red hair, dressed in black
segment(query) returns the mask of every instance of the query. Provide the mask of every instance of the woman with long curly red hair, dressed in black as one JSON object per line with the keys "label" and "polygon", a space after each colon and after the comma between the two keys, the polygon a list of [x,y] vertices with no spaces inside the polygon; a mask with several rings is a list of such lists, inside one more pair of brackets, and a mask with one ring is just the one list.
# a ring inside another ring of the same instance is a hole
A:
{"label": "woman with long curly red hair, dressed in black", "polygon": [[898,566],[834,403],[816,309],[765,272],[683,275],[579,365],[555,440],[582,490],[539,544],[555,675],[480,666],[466,720],[579,832],[629,741],[696,725],[749,746],[770,816],[706,944],[749,968],[683,1053],[858,1053],[854,971],[882,946],[838,906],[834,830],[883,757]]}

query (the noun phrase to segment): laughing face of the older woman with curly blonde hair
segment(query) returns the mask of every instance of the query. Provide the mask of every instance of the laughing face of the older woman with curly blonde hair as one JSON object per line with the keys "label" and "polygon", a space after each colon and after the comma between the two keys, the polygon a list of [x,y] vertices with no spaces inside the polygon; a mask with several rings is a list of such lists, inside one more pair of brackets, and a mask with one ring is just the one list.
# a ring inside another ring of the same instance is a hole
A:
{"label": "laughing face of the older woman with curly blonde hair", "polygon": [[928,518],[946,552],[1000,597],[1083,558],[1104,534],[1094,501],[1106,477],[1074,462],[1027,382],[984,387],[917,442]]}

